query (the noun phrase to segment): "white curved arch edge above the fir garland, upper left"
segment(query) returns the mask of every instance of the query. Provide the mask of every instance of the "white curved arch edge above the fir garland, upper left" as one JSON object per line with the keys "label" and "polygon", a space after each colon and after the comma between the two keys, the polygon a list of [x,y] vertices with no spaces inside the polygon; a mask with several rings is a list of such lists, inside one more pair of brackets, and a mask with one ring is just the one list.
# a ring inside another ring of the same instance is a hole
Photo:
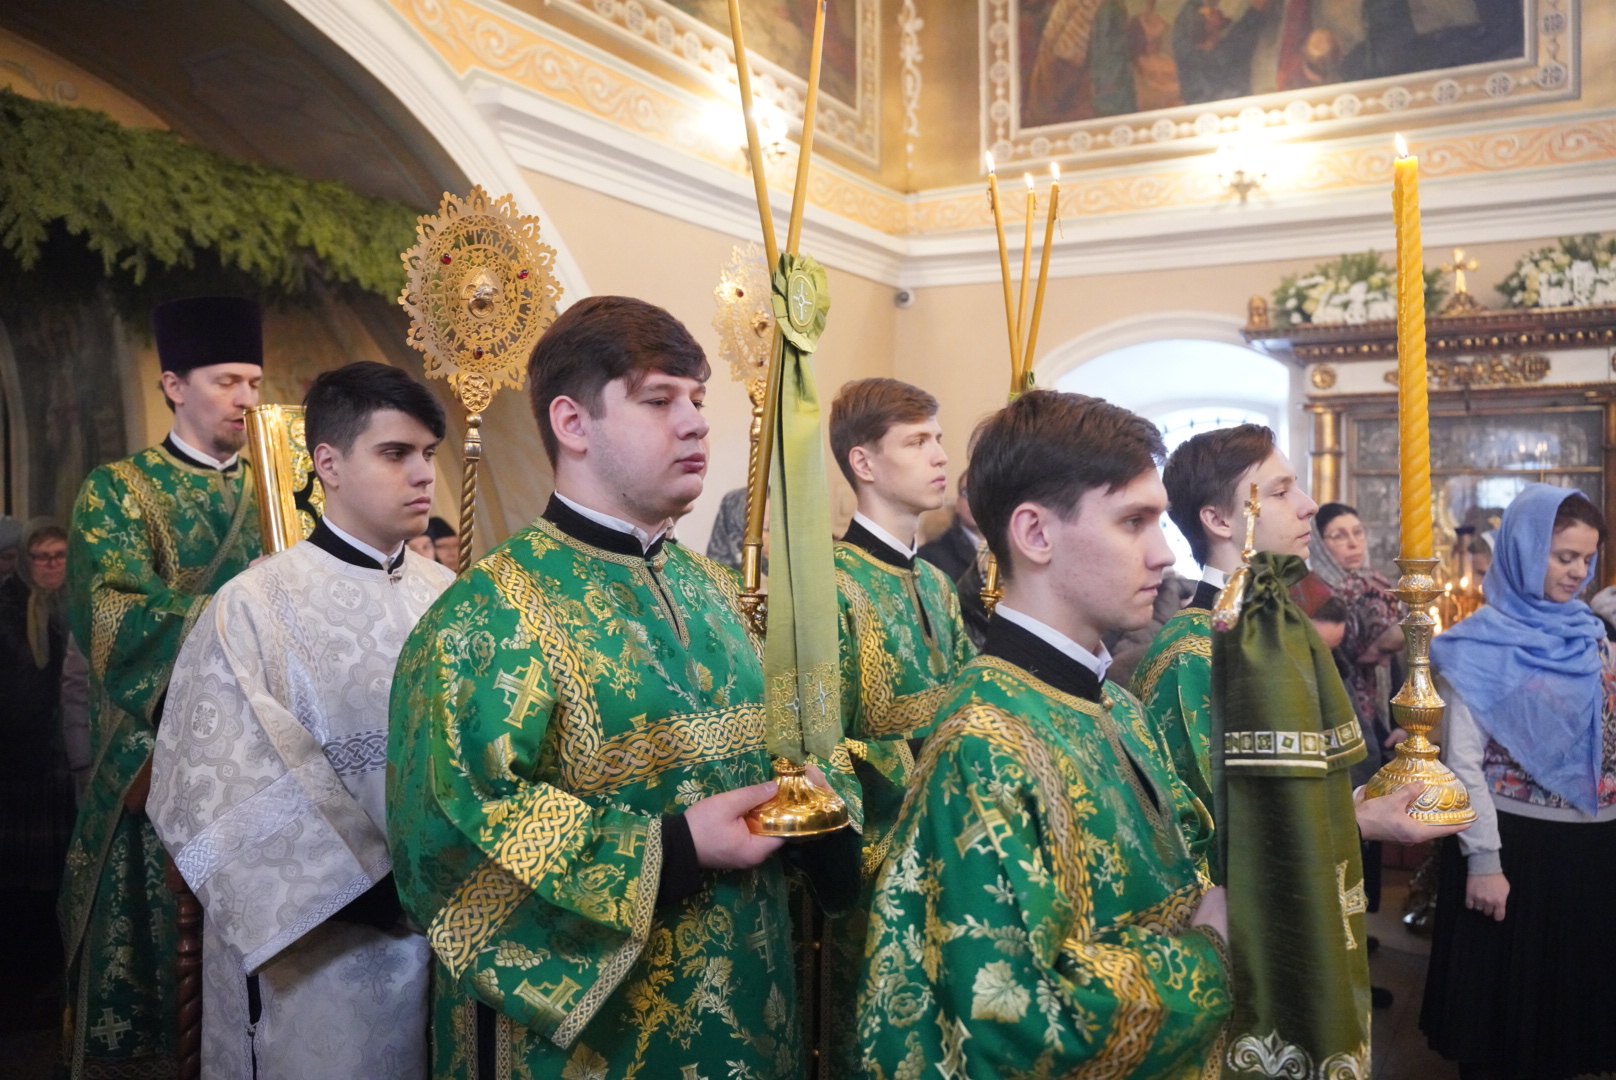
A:
{"label": "white curved arch edge above the fir garland, upper left", "polygon": [[482,184],[493,196],[511,192],[522,213],[540,218],[545,243],[556,249],[562,307],[590,294],[583,270],[520,167],[465,97],[443,58],[391,5],[385,0],[286,0],[286,5],[398,97],[473,184]]}

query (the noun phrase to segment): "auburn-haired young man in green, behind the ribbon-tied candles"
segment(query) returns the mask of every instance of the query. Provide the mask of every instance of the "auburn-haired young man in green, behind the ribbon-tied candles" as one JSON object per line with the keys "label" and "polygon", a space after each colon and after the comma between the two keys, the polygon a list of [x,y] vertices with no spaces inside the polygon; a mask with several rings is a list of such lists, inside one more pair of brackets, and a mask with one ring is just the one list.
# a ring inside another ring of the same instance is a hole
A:
{"label": "auburn-haired young man in green, behind the ribbon-tied candles", "polygon": [[937,703],[976,655],[960,598],[941,569],[916,558],[920,516],[942,506],[937,399],[895,378],[847,383],[831,404],[831,449],[858,511],[835,545],[842,619],[842,731],[855,740],[863,787],[866,886],[861,904],[819,934],[821,1077],[860,1072],[858,975],[874,871]]}

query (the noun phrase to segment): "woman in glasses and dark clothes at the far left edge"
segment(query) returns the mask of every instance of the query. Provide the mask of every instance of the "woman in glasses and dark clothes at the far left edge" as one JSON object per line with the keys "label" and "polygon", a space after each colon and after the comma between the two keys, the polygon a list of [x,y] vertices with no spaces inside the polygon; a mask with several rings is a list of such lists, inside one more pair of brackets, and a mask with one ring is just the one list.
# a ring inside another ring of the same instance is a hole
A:
{"label": "woman in glasses and dark clothes at the far left edge", "polygon": [[16,571],[0,580],[0,910],[8,912],[5,1015],[39,1022],[61,968],[57,891],[73,831],[73,786],[61,745],[68,534],[32,521]]}

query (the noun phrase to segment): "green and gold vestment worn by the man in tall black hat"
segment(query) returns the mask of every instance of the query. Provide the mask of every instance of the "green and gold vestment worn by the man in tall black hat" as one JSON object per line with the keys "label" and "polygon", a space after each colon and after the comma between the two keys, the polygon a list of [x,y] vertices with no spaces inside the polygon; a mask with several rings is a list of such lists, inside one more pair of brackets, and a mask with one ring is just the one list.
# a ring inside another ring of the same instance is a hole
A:
{"label": "green and gold vestment worn by the man in tall black hat", "polygon": [[73,1077],[175,1069],[175,899],[163,846],[123,799],[150,760],[160,702],[212,593],[262,551],[250,464],[166,445],[89,474],[73,506],[68,618],[90,666],[90,778],[68,847],[63,941]]}

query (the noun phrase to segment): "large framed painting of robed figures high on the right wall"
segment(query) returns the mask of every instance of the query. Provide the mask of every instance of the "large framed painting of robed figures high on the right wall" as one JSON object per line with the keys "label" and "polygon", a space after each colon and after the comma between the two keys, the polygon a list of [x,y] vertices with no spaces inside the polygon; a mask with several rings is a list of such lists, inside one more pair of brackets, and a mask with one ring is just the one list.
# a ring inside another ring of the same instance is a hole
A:
{"label": "large framed painting of robed figures high on the right wall", "polygon": [[[1577,97],[1579,0],[978,0],[983,149],[1204,152],[1262,128]],[[1183,146],[1197,139],[1196,146]]]}

